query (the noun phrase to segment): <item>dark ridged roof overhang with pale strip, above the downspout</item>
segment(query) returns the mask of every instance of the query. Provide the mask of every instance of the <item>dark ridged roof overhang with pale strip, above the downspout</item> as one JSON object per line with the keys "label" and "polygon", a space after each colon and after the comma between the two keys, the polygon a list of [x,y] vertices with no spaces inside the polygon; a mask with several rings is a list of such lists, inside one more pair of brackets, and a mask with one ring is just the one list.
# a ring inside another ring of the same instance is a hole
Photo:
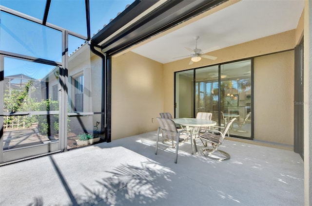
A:
{"label": "dark ridged roof overhang with pale strip, above the downspout", "polygon": [[107,56],[166,31],[227,0],[136,0],[94,37]]}

